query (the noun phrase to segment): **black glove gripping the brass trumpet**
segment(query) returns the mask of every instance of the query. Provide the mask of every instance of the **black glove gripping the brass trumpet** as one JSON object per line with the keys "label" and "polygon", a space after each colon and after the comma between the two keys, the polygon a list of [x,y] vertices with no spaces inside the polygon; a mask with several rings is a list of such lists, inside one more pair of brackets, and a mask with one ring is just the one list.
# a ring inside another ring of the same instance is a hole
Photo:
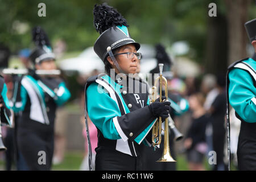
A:
{"label": "black glove gripping the brass trumpet", "polygon": [[[162,97],[162,100],[165,99],[166,97]],[[171,110],[171,102],[169,101],[164,101],[164,102],[159,102],[159,98],[150,104],[150,110],[151,113],[154,115],[154,117],[162,117],[162,121],[164,119],[169,117],[169,111]]]}

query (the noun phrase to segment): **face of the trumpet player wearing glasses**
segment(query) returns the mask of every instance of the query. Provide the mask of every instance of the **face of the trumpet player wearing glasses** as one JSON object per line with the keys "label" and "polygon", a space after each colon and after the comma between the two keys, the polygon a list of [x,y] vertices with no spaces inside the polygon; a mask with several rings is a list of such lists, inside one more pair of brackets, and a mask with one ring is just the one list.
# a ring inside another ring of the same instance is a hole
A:
{"label": "face of the trumpet player wearing glasses", "polygon": [[[115,52],[115,54],[125,53],[125,52],[137,52],[137,50],[133,44],[127,44],[125,46],[122,46],[118,52]],[[137,66],[138,66],[137,56],[134,55],[132,59],[129,59],[127,57],[127,54],[123,54],[123,55],[116,55],[115,59],[117,60],[119,67],[122,69],[124,73],[128,74],[128,73],[137,72]],[[110,64],[112,64],[112,67],[115,68],[115,65],[110,57],[108,57],[108,61],[110,62]],[[115,68],[115,72],[119,73],[117,68]]]}

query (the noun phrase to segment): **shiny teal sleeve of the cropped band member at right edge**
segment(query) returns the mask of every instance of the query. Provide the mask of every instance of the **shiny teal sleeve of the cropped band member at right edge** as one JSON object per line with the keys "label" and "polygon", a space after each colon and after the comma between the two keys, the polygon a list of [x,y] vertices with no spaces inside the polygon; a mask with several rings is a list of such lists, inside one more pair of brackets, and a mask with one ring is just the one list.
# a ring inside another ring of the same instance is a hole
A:
{"label": "shiny teal sleeve of the cropped band member at right edge", "polygon": [[256,105],[251,100],[256,96],[256,88],[249,73],[234,68],[229,73],[229,102],[240,117],[249,123],[256,122]]}

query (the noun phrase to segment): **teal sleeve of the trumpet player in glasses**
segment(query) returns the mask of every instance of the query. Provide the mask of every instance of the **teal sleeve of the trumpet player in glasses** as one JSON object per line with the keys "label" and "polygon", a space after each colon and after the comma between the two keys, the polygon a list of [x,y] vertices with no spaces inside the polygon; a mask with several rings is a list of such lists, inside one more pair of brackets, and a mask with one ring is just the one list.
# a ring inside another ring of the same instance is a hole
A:
{"label": "teal sleeve of the trumpet player in glasses", "polygon": [[113,122],[121,112],[116,102],[97,83],[90,84],[86,90],[86,107],[90,120],[105,138],[121,139]]}

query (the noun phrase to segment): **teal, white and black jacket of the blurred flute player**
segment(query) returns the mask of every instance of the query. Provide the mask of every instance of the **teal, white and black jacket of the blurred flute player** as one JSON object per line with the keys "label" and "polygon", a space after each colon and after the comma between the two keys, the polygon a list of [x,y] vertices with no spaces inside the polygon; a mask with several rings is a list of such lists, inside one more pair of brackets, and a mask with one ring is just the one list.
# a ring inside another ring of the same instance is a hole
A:
{"label": "teal, white and black jacket of the blurred flute player", "polygon": [[13,110],[22,111],[22,121],[32,120],[45,125],[52,125],[57,106],[63,105],[71,94],[65,83],[56,78],[23,76],[20,85],[20,102],[15,102]]}

